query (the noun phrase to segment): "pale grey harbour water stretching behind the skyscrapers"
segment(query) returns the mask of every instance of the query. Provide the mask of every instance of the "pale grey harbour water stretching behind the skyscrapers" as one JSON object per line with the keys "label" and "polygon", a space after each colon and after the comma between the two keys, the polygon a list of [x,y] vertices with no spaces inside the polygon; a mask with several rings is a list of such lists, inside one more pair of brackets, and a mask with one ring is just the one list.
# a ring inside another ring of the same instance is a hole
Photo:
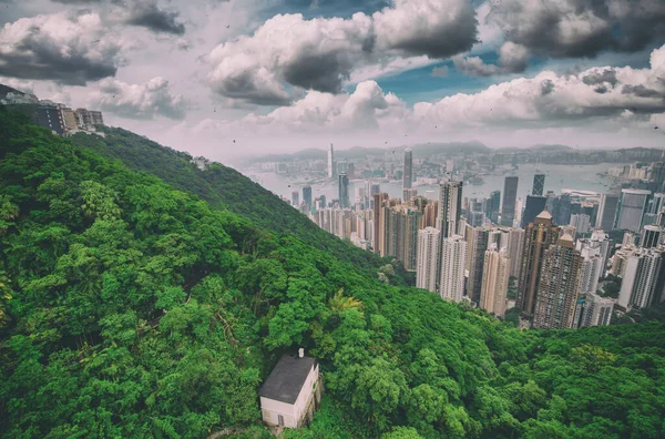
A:
{"label": "pale grey harbour water stretching behind the skyscrapers", "polygon": [[[598,164],[584,164],[584,165],[570,165],[570,164],[521,164],[518,170],[508,171],[505,173],[495,174],[481,174],[483,183],[472,185],[464,183],[462,188],[462,196],[469,198],[483,198],[490,195],[493,191],[501,191],[503,195],[503,183],[508,175],[516,175],[518,182],[518,197],[524,198],[531,193],[533,187],[533,175],[545,174],[545,188],[553,191],[555,194],[561,194],[563,190],[577,190],[577,191],[592,191],[597,193],[605,193],[614,185],[614,181],[606,176],[606,172],[612,166],[621,166],[617,163],[598,163]],[[329,202],[338,197],[338,185],[334,181],[323,182],[305,182],[301,178],[289,177],[284,174],[276,173],[247,173],[245,174],[253,181],[259,183],[268,191],[291,200],[291,193],[298,191],[300,193],[300,201],[303,200],[303,186],[306,184],[311,185],[313,198],[320,195],[326,195],[326,200]],[[357,187],[365,187],[366,180],[351,180],[349,182],[349,195],[351,201],[355,200],[357,194]],[[372,180],[372,182],[381,185],[381,192],[387,192],[390,197],[401,198],[402,196],[402,183],[401,181],[380,181]],[[439,198],[439,185],[438,184],[422,184],[415,183],[415,187],[418,191],[418,195],[424,195],[431,200]]]}

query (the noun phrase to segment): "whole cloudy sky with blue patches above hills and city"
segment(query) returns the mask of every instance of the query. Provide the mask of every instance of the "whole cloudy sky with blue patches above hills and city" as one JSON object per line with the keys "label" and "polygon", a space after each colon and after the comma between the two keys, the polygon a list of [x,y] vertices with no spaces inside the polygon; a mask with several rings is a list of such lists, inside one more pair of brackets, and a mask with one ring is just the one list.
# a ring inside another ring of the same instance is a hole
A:
{"label": "whole cloudy sky with blue patches above hills and city", "polygon": [[0,0],[0,83],[223,162],[329,143],[665,147],[663,0]]}

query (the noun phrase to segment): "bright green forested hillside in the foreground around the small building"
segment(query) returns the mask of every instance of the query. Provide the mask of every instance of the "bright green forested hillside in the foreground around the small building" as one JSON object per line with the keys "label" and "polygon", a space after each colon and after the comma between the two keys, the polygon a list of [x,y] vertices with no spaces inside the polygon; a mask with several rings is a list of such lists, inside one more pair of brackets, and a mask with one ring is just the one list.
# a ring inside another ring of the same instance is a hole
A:
{"label": "bright green forested hillside in the foreground around the small building", "polygon": [[665,435],[662,323],[521,331],[316,244],[0,109],[0,436],[269,437],[298,347],[326,395],[289,438]]}

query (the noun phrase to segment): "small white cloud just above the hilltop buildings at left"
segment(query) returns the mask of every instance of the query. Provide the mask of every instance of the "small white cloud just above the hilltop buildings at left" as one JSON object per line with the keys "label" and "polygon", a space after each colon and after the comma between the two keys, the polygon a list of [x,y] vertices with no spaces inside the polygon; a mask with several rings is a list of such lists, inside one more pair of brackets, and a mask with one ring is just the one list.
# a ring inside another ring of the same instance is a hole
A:
{"label": "small white cloud just above the hilltop buildings at left", "polygon": [[172,94],[168,81],[161,76],[143,84],[127,84],[111,78],[102,80],[90,101],[93,108],[131,119],[181,120],[186,110],[184,98]]}

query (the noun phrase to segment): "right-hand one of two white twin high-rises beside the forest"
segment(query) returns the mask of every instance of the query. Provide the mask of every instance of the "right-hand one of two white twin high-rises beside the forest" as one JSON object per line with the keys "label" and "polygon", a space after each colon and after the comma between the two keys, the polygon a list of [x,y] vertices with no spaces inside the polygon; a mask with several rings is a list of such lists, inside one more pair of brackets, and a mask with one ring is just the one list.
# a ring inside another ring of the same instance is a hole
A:
{"label": "right-hand one of two white twin high-rises beside the forest", "polygon": [[459,235],[442,241],[439,267],[439,295],[454,302],[462,300],[464,292],[464,261],[467,243]]}

